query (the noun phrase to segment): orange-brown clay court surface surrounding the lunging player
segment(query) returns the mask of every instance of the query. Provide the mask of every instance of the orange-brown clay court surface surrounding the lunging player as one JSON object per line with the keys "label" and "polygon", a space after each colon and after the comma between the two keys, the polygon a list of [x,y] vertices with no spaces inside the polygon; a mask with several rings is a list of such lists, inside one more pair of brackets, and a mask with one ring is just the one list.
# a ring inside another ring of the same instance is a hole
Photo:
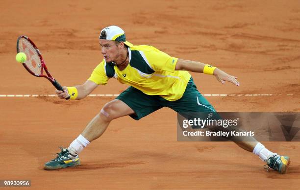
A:
{"label": "orange-brown clay court surface surrounding the lunging player", "polygon": [[300,112],[299,0],[1,0],[0,7],[0,179],[57,190],[300,188],[300,142],[264,142],[291,157],[287,174],[267,172],[233,142],[177,142],[168,108],[112,121],[81,153],[81,166],[46,171],[58,146],[68,147],[127,86],[110,79],[80,101],[41,96],[54,87],[15,61],[17,38],[27,35],[60,84],[81,84],[102,60],[101,28],[118,25],[134,45],[238,76],[240,87],[192,73],[219,112]]}

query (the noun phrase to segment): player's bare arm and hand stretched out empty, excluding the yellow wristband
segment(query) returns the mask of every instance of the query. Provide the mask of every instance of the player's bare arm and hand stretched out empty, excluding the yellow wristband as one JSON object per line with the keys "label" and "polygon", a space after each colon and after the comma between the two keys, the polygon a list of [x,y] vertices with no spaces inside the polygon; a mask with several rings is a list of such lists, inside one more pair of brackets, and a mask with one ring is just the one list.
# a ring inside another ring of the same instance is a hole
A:
{"label": "player's bare arm and hand stretched out empty, excluding the yellow wristband", "polygon": [[[184,59],[178,59],[176,63],[175,70],[176,71],[192,71],[192,72],[203,72],[204,67],[206,64],[197,62],[197,61],[189,61],[189,60],[184,60]],[[236,86],[240,86],[240,83],[237,81],[236,76],[232,76],[227,74],[226,72],[215,68],[212,73],[219,82],[222,84],[225,83],[225,81],[231,82],[232,84]]]}

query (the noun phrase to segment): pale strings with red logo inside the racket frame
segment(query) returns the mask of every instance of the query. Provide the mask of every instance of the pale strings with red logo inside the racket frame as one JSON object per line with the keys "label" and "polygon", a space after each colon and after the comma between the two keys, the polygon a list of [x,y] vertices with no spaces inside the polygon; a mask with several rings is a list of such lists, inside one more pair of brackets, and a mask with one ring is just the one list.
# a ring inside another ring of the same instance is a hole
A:
{"label": "pale strings with red logo inside the racket frame", "polygon": [[24,63],[27,68],[36,75],[42,74],[42,62],[37,50],[25,38],[20,39],[18,46],[19,52],[24,52],[26,54],[26,61]]}

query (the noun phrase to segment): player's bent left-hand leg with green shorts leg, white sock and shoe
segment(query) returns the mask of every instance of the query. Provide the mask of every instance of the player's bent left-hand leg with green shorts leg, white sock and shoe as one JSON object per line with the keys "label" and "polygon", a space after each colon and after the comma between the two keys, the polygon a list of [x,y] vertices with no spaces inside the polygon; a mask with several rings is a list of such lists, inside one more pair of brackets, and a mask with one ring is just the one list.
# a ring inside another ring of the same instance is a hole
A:
{"label": "player's bent left-hand leg with green shorts leg, white sock and shoe", "polygon": [[92,119],[83,132],[70,144],[69,148],[61,148],[57,158],[46,163],[47,170],[78,166],[78,154],[92,141],[99,138],[110,121],[129,115],[139,120],[144,116],[160,109],[157,96],[149,96],[141,91],[129,87],[116,99],[106,103],[100,113]]}

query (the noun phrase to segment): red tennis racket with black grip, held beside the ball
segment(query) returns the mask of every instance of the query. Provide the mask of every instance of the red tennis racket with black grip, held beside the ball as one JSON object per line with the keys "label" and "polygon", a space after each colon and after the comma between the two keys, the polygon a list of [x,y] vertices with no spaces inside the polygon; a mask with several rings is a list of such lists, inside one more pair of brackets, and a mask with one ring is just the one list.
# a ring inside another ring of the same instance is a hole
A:
{"label": "red tennis racket with black grip, held beside the ball", "polygon": [[[27,36],[23,35],[18,38],[17,52],[23,52],[26,54],[26,61],[22,64],[30,74],[37,77],[47,78],[57,90],[64,91],[62,86],[48,71],[40,50]],[[47,75],[43,74],[44,71]],[[66,99],[70,99],[70,95]]]}

